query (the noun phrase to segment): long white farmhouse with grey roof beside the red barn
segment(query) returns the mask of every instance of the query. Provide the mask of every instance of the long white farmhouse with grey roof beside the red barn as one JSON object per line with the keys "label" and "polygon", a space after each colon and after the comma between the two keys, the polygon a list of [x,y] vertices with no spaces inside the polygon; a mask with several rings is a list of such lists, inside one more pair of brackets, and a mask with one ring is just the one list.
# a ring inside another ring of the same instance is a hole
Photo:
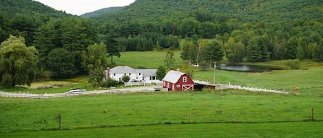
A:
{"label": "long white farmhouse with grey roof beside the red barn", "polygon": [[122,81],[123,76],[129,76],[130,82],[156,83],[160,82],[156,79],[156,71],[157,69],[132,69],[128,66],[117,66],[112,69],[108,67],[105,70],[105,78]]}

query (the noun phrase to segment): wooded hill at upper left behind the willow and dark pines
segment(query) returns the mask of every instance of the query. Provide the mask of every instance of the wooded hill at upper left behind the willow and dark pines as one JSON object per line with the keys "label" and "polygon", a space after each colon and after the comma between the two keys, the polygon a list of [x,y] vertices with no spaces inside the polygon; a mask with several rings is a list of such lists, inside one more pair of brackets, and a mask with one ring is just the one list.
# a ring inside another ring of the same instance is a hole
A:
{"label": "wooded hill at upper left behind the willow and dark pines", "polygon": [[[37,28],[50,19],[62,19],[74,16],[50,8],[32,0],[1,0],[0,1],[0,42],[5,41],[9,34],[23,36],[27,45],[32,45]],[[75,16],[77,17],[77,16]]]}

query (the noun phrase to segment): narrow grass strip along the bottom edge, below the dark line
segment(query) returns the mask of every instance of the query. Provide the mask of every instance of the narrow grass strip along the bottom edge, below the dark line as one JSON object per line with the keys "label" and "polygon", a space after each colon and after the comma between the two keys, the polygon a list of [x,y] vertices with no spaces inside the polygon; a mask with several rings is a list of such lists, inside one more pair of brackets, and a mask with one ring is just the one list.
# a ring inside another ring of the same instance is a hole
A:
{"label": "narrow grass strip along the bottom edge, below the dark line", "polygon": [[0,133],[0,137],[322,137],[323,122],[175,124]]}

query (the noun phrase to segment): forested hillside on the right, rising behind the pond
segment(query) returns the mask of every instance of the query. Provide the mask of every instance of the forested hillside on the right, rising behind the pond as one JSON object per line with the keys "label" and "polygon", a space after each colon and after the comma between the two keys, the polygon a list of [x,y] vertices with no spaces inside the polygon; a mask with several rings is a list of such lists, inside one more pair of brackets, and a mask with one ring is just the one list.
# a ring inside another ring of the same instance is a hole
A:
{"label": "forested hillside on the right, rising behind the pond", "polygon": [[322,45],[320,0],[137,0],[125,10],[93,19],[102,24],[101,34],[121,37],[122,50],[176,48],[167,43],[169,38],[197,35],[216,38],[231,62],[322,60],[313,53]]}

